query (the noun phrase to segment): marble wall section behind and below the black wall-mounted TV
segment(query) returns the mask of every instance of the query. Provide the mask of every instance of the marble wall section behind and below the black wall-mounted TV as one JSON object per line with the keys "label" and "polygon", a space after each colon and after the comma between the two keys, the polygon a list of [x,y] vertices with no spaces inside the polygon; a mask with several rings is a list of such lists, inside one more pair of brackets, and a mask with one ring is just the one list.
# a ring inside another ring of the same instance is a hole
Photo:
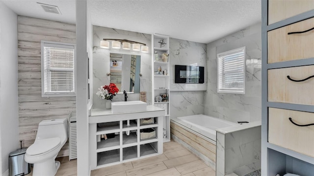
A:
{"label": "marble wall section behind and below the black wall-mounted TV", "polygon": [[[206,44],[170,38],[170,114],[171,118],[204,114],[204,91],[207,89]],[[176,84],[175,65],[205,67],[204,84]]]}

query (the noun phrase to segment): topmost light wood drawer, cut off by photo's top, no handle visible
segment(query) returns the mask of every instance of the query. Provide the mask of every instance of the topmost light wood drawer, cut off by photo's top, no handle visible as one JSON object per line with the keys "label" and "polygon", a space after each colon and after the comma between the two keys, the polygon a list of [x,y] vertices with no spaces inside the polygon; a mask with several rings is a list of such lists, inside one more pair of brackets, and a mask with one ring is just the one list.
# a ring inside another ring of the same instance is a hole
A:
{"label": "topmost light wood drawer, cut off by photo's top, no handle visible", "polygon": [[312,9],[313,0],[268,0],[268,25]]}

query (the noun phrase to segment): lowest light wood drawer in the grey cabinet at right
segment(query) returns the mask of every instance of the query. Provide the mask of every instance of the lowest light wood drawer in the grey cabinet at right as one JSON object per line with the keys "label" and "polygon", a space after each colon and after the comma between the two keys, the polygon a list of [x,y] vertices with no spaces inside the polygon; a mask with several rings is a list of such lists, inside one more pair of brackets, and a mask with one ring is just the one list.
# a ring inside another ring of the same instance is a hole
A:
{"label": "lowest light wood drawer in the grey cabinet at right", "polygon": [[314,157],[314,113],[296,110],[268,109],[268,142]]}

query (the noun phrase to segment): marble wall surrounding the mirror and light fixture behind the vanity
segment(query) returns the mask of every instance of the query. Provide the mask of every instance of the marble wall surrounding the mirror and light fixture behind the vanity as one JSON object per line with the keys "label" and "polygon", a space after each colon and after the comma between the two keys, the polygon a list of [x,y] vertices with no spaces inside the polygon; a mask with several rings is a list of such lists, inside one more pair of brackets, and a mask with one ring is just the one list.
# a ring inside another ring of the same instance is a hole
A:
{"label": "marble wall surrounding the mirror and light fixture behind the vanity", "polygon": [[[116,49],[104,49],[100,47],[100,41],[104,38],[107,39],[127,39],[130,41],[136,41],[146,44],[150,51],[149,53],[134,52],[134,51],[123,51]],[[134,54],[141,55],[141,73],[140,78],[140,91],[146,91],[146,100],[147,104],[152,104],[152,47],[151,47],[151,35],[143,34],[138,32],[131,32],[126,30],[102,27],[102,26],[93,26],[93,108],[104,108],[105,101],[101,100],[96,92],[98,88],[104,85],[109,84],[109,76],[106,75],[109,72],[109,55],[111,52],[119,52],[122,54]],[[139,93],[128,94],[128,100],[139,100]],[[124,101],[124,95],[116,95],[112,101]]]}

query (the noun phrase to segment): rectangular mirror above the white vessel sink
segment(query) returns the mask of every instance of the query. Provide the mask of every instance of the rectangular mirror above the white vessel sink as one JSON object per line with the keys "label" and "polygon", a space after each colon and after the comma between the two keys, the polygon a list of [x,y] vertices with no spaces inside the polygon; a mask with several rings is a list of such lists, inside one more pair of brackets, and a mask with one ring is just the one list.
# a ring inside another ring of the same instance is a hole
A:
{"label": "rectangular mirror above the white vessel sink", "polygon": [[110,53],[110,83],[114,83],[119,92],[139,93],[141,56]]}

